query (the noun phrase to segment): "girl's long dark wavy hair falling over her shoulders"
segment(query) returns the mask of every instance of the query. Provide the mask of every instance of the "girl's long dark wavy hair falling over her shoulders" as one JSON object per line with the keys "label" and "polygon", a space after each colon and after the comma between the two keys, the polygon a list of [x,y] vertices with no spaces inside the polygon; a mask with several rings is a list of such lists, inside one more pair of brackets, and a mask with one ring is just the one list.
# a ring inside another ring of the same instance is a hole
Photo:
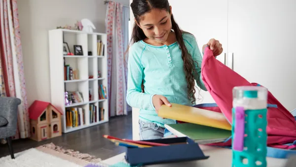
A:
{"label": "girl's long dark wavy hair falling over her shoulders", "polygon": [[[131,3],[131,8],[132,8],[135,20],[138,23],[139,23],[140,16],[142,16],[146,12],[149,12],[153,8],[165,9],[167,12],[171,13],[170,4],[168,0],[133,0],[133,2]],[[182,36],[183,33],[187,33],[187,32],[184,32],[179,28],[178,24],[174,19],[173,14],[171,14],[171,22],[172,22],[172,29],[175,33],[177,42],[179,43],[180,48],[182,50],[182,59],[184,61],[185,78],[187,81],[187,88],[188,88],[188,99],[192,99],[191,102],[194,103],[196,98],[194,96],[195,89],[194,89],[193,73],[196,71],[193,68],[194,62],[193,62],[192,56],[188,53],[183,40],[183,36]],[[147,37],[144,34],[143,30],[135,22],[129,46],[131,46],[135,42],[139,42],[146,38]],[[197,82],[199,82],[199,80]],[[142,91],[144,92],[143,83],[141,87],[142,87]]]}

